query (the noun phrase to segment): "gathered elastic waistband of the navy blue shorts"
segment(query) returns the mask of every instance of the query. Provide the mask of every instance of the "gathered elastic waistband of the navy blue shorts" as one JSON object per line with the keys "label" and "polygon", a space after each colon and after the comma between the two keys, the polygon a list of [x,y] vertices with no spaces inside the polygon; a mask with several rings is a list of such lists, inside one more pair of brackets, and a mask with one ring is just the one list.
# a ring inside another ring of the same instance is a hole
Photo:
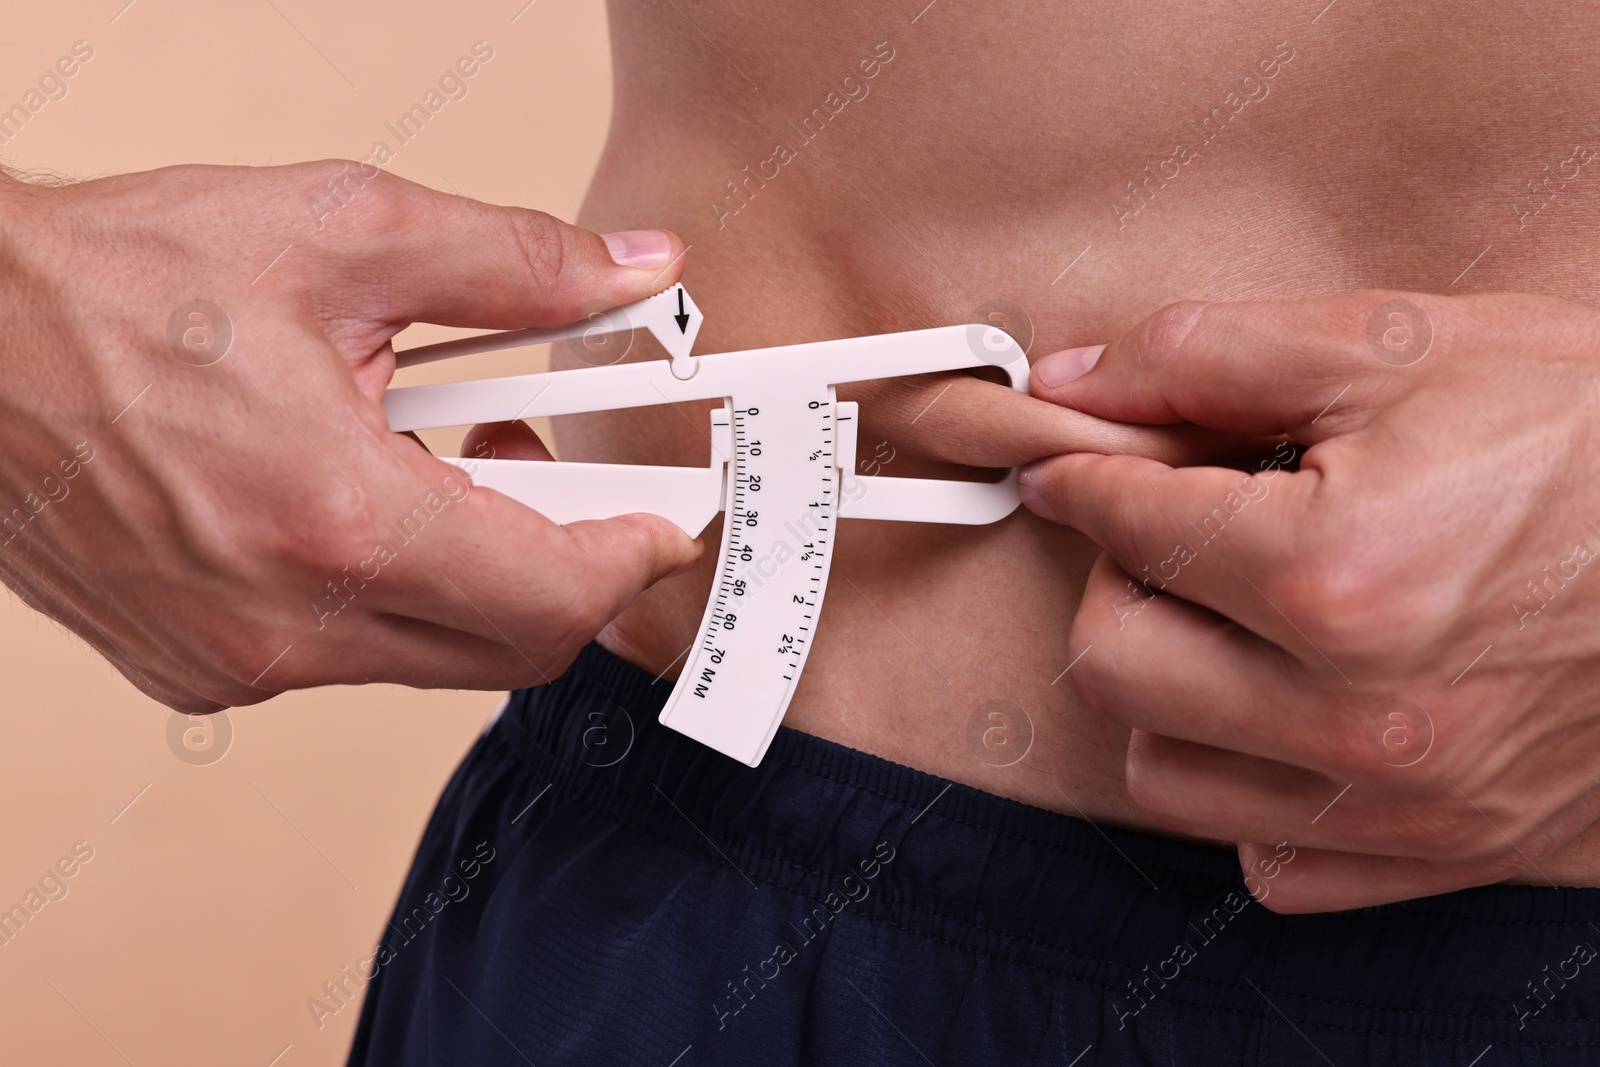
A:
{"label": "gathered elastic waistband of the navy blue shorts", "polygon": [[870,869],[858,913],[1080,981],[1139,974],[1187,945],[1203,957],[1195,990],[1269,973],[1302,1013],[1370,1005],[1397,1029],[1426,1017],[1448,1032],[1467,1014],[1509,1016],[1520,977],[1507,961],[1538,960],[1544,942],[1600,945],[1595,889],[1488,886],[1282,917],[1248,899],[1234,853],[1030,808],[794,729],[752,769],[659,725],[670,686],[590,646],[555,683],[514,694],[494,733],[555,803],[813,899],[851,894]]}

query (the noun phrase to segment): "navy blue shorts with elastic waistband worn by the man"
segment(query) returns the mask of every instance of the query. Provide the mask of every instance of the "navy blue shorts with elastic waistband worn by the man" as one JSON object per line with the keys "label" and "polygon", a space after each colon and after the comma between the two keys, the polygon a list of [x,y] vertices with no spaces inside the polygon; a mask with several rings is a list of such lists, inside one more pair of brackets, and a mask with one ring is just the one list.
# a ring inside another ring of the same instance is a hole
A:
{"label": "navy blue shorts with elastic waistband worn by the man", "polygon": [[792,729],[749,769],[656,721],[667,686],[589,648],[514,694],[352,1064],[1600,1064],[1600,891],[1275,915],[1232,853]]}

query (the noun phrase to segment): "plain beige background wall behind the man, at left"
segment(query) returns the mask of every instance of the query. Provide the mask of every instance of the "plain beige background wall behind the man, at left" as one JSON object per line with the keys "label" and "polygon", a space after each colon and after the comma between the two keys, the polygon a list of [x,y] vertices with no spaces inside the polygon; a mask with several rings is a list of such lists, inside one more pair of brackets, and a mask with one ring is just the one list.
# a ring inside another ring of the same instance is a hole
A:
{"label": "plain beige background wall behind the man, at left", "polygon": [[[600,154],[598,0],[125,2],[6,5],[0,106],[74,42],[94,58],[0,162],[90,178],[360,158],[477,40],[494,59],[389,170],[571,218]],[[440,336],[413,328],[400,347]],[[230,712],[226,755],[195,766],[168,747],[165,709],[14,597],[0,681],[0,910],[75,841],[94,849],[0,945],[0,1064],[342,1062],[357,1006],[318,1030],[306,1001],[371,950],[501,697],[290,694]]]}

